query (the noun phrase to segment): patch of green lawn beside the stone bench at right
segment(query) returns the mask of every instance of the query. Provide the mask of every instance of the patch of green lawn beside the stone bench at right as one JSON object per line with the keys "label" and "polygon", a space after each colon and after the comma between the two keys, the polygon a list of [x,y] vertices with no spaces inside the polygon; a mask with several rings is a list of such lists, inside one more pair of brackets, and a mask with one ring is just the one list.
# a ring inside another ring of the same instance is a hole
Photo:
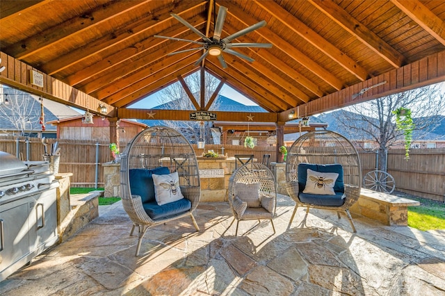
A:
{"label": "patch of green lawn beside the stone bench at right", "polygon": [[408,206],[408,226],[423,231],[445,229],[445,203],[421,197],[407,197],[420,202],[420,206]]}

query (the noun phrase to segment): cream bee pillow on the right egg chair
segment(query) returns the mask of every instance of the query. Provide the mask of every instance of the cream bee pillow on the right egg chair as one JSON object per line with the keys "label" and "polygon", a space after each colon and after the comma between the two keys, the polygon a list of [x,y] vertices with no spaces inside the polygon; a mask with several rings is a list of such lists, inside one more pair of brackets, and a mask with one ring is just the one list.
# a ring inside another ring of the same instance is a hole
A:
{"label": "cream bee pillow on the right egg chair", "polygon": [[303,193],[312,195],[335,195],[334,185],[339,177],[337,173],[316,172],[307,169],[306,187]]}

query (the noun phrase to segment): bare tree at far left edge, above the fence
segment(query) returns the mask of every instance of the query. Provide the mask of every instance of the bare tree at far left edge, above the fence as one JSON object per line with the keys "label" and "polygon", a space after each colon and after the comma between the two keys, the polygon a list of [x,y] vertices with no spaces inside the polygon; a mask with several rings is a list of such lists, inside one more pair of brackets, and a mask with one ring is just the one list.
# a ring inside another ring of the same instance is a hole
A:
{"label": "bare tree at far left edge, above the fence", "polygon": [[0,89],[0,115],[6,122],[3,129],[16,130],[19,135],[26,135],[25,131],[33,130],[33,126],[40,121],[35,99],[13,88],[0,85]]}

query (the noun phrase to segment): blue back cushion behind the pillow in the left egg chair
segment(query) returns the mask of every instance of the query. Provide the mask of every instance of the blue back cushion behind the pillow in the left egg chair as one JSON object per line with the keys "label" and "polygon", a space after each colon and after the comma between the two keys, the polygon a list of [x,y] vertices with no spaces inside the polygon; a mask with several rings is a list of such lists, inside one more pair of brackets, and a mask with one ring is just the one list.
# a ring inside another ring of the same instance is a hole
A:
{"label": "blue back cushion behind the pillow in the left egg chair", "polygon": [[140,195],[142,203],[156,202],[154,199],[154,183],[152,174],[170,174],[170,170],[168,167],[156,167],[152,170],[129,170],[131,194]]}

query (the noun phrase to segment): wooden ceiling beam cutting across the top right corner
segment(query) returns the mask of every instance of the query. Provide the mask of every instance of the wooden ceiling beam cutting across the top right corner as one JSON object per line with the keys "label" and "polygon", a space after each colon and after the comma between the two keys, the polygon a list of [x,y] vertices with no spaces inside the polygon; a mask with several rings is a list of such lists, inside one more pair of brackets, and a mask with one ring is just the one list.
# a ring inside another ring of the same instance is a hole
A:
{"label": "wooden ceiling beam cutting across the top right corner", "polygon": [[445,45],[445,22],[418,0],[391,2],[437,41]]}

